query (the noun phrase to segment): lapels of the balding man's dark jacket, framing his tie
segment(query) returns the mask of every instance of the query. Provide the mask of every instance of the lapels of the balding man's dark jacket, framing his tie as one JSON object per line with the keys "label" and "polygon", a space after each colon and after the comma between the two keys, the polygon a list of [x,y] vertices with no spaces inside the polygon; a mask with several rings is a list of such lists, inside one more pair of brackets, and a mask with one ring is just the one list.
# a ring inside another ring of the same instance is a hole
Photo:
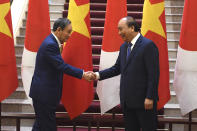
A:
{"label": "lapels of the balding man's dark jacket, framing his tie", "polygon": [[[135,56],[138,48],[141,46],[142,38],[143,38],[143,36],[140,35],[139,39],[136,41],[136,43],[135,43],[135,45],[134,45],[134,47],[133,47],[133,49],[131,51],[131,54],[129,55],[128,60],[126,60],[126,56],[125,56],[126,64],[124,66],[124,70],[127,68],[128,64],[133,60],[133,57]],[[126,50],[125,54],[127,54],[127,50]]]}

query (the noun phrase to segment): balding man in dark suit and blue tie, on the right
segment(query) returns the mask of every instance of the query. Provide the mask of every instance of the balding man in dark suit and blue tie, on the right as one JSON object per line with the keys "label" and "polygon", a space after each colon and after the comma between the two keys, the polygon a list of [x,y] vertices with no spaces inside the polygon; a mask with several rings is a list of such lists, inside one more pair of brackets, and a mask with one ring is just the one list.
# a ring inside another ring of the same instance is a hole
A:
{"label": "balding man in dark suit and blue tie, on the right", "polygon": [[139,33],[132,17],[118,23],[119,34],[125,41],[118,59],[111,68],[96,73],[104,80],[121,74],[120,101],[126,131],[155,131],[159,82],[159,52],[153,41]]}

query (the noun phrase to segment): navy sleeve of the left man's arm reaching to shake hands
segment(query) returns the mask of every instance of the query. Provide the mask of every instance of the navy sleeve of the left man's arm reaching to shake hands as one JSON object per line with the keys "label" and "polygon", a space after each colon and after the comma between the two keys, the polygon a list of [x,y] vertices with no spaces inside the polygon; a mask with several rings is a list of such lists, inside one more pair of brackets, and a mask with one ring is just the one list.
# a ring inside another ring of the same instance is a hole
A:
{"label": "navy sleeve of the left man's arm reaching to shake hands", "polygon": [[47,61],[57,70],[79,79],[82,78],[83,70],[64,63],[57,46],[48,44],[45,49],[45,57]]}

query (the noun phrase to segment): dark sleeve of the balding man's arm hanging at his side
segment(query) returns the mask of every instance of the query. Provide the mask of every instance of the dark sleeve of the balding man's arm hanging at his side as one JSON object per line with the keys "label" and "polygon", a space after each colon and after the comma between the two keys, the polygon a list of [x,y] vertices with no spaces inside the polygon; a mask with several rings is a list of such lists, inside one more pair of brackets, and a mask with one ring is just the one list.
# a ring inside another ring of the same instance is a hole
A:
{"label": "dark sleeve of the balding man's arm hanging at his side", "polygon": [[158,99],[159,51],[153,42],[147,45],[144,58],[148,75],[146,98]]}

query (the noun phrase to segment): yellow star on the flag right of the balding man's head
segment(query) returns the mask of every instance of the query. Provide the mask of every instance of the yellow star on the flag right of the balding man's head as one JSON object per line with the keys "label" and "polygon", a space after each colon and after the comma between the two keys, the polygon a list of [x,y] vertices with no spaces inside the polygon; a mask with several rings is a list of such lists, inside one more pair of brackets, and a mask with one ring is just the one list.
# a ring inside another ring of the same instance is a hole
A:
{"label": "yellow star on the flag right of the balding man's head", "polygon": [[145,0],[142,19],[142,35],[146,35],[148,31],[166,38],[165,31],[159,20],[159,17],[164,11],[164,2],[151,4],[149,0]]}

